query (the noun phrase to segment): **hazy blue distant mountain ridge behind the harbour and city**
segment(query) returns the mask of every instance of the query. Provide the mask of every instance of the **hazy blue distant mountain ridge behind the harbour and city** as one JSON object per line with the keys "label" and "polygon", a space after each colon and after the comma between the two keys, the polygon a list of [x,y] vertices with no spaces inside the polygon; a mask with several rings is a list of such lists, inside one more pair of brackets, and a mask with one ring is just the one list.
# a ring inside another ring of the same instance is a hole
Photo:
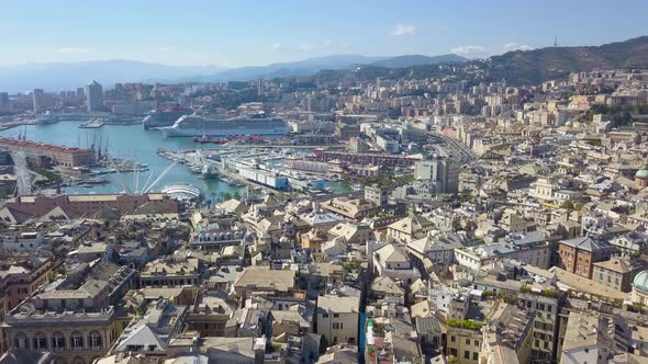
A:
{"label": "hazy blue distant mountain ridge behind the harbour and city", "polygon": [[[380,61],[421,62],[442,56],[364,56],[331,55],[306,58],[297,61],[272,62],[265,66],[224,68],[220,66],[171,66],[129,59],[87,60],[79,62],[33,62],[14,66],[0,66],[1,91],[26,92],[33,89],[45,91],[75,90],[97,80],[104,87],[115,82],[143,81],[246,81],[258,78],[284,76],[312,76],[323,69],[345,69],[354,65]],[[425,58],[424,58],[425,57]],[[456,56],[458,57],[458,56]],[[399,60],[401,59],[401,60]]]}

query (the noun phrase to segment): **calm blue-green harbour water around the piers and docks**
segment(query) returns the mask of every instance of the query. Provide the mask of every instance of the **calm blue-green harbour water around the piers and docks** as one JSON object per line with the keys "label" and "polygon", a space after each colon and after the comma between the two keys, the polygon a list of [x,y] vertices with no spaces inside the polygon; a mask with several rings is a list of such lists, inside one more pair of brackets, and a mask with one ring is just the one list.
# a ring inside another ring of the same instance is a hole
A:
{"label": "calm blue-green harbour water around the piers and docks", "polygon": [[[88,148],[92,143],[99,145],[108,144],[108,151],[115,158],[136,160],[148,164],[149,170],[139,173],[139,186],[146,182],[149,173],[153,173],[153,182],[170,164],[168,159],[157,155],[157,149],[197,149],[206,148],[194,144],[191,138],[164,138],[159,130],[145,130],[142,124],[136,125],[105,125],[101,128],[86,129],[79,128],[81,122],[58,122],[46,125],[27,125],[15,127],[9,130],[0,132],[0,136],[18,137],[19,133],[26,130],[26,139],[51,143],[55,145],[65,145],[68,147]],[[213,146],[212,146],[213,148]],[[103,147],[102,147],[103,150]],[[131,190],[134,190],[134,173],[122,173],[123,183]],[[92,187],[67,187],[68,193],[113,193],[123,191],[122,182],[116,173],[108,174],[104,178],[111,183],[96,185]],[[233,186],[221,180],[202,180],[198,174],[191,173],[187,168],[177,164],[174,169],[161,179],[152,191],[159,191],[165,185],[174,183],[189,183],[201,189],[208,198],[213,194],[230,193],[234,194],[243,189]]]}

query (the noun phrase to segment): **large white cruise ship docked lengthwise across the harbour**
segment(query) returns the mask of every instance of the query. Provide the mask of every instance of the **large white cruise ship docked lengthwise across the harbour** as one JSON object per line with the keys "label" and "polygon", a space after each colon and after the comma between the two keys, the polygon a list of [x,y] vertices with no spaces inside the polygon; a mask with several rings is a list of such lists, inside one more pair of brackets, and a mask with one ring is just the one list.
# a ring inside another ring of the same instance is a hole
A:
{"label": "large white cruise ship docked lengthwise across the harbour", "polygon": [[288,123],[279,117],[261,115],[210,118],[198,115],[185,115],[169,127],[160,128],[166,137],[194,136],[283,136],[288,134]]}

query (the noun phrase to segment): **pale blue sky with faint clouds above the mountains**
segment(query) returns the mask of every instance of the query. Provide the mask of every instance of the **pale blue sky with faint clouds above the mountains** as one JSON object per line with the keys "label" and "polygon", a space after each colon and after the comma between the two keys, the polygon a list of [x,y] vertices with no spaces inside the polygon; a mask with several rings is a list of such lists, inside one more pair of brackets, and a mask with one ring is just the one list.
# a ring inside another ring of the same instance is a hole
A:
{"label": "pale blue sky with faint clouds above the mountains", "polygon": [[599,45],[646,35],[648,1],[2,1],[0,65],[136,59],[266,65]]}

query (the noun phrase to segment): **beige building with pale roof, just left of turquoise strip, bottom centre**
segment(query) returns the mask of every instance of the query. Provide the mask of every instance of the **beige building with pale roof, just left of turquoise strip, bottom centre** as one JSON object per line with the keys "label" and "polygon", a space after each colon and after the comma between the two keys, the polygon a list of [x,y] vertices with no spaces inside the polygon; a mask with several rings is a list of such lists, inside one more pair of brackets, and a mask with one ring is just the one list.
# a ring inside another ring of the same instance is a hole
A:
{"label": "beige building with pale roof, just left of turquoise strip, bottom centre", "polygon": [[357,344],[360,299],[332,295],[317,298],[317,332],[329,345]]}

